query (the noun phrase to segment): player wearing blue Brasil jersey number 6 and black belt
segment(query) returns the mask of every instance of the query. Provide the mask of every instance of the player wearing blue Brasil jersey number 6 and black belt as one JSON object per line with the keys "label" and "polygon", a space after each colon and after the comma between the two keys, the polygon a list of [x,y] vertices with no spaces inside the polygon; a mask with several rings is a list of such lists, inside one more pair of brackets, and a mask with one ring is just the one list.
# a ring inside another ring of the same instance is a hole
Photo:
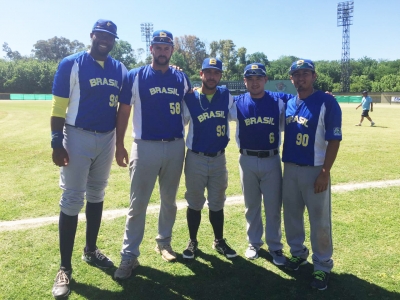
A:
{"label": "player wearing blue Brasil jersey number 6 and black belt", "polygon": [[282,169],[280,134],[284,125],[284,101],[293,95],[265,91],[265,66],[249,64],[244,69],[248,92],[235,97],[236,142],[240,148],[239,167],[246,207],[247,239],[245,256],[258,258],[263,245],[261,206],[265,209],[265,240],[276,265],[284,265],[281,209]]}

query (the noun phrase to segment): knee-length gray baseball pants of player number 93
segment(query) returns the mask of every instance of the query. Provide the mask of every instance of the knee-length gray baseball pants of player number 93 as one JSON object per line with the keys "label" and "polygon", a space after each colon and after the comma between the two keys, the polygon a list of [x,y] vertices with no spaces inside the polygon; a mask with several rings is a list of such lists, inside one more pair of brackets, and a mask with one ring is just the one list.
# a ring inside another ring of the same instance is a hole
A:
{"label": "knee-length gray baseball pants of player number 93", "polygon": [[186,193],[188,207],[203,209],[207,188],[208,207],[212,211],[224,208],[225,191],[228,187],[228,170],[225,154],[208,157],[193,153],[188,149],[185,159]]}

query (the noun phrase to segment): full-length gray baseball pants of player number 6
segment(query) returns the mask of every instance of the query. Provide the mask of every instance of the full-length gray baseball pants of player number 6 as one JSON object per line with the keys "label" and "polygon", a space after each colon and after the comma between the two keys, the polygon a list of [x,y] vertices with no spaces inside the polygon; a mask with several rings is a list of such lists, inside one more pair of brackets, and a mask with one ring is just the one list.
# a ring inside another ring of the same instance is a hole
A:
{"label": "full-length gray baseball pants of player number 6", "polygon": [[265,241],[269,251],[281,250],[282,168],[279,155],[266,158],[239,156],[240,179],[246,207],[247,239],[257,249],[263,245],[261,201],[265,210]]}

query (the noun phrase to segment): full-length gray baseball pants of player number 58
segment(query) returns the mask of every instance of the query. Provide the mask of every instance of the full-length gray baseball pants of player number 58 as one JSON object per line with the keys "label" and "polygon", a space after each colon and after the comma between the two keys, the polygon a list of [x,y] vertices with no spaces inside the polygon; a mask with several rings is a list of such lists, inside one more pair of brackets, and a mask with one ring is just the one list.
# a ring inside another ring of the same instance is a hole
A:
{"label": "full-length gray baseball pants of player number 58", "polygon": [[185,144],[183,139],[158,142],[135,139],[132,143],[129,171],[131,177],[130,205],[126,217],[122,259],[140,255],[146,209],[157,177],[160,185],[158,244],[170,244],[176,218],[176,194],[182,174]]}

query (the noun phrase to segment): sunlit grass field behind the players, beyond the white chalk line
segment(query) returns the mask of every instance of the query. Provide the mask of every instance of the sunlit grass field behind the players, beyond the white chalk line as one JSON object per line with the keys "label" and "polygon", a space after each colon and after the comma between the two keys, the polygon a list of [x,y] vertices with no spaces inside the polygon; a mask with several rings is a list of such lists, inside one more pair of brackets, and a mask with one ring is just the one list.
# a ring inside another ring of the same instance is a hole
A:
{"label": "sunlit grass field behind the players, beyond the white chalk line", "polygon": [[[332,170],[332,183],[398,179],[399,105],[376,104],[371,114],[376,122],[355,127],[361,111],[355,104],[341,104],[343,141]],[[58,215],[59,168],[51,161],[51,101],[0,101],[0,221]],[[129,123],[131,126],[131,123]],[[126,136],[131,146],[131,127]],[[229,171],[228,196],[240,195],[238,149],[235,123],[231,123],[231,142],[226,149]],[[182,176],[177,199],[184,199]],[[158,184],[150,203],[159,202]],[[106,189],[105,209],[125,208],[129,204],[129,176],[126,168],[114,162]]]}

